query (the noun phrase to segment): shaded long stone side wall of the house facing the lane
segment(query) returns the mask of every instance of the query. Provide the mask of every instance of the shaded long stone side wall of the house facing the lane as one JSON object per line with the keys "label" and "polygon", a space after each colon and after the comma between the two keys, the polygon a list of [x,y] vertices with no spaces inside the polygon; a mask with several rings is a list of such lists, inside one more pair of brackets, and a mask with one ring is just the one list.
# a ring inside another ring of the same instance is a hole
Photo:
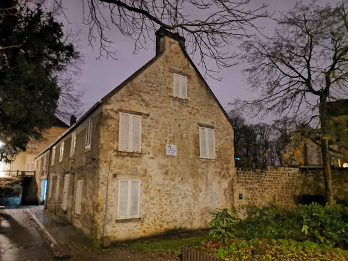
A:
{"label": "shaded long stone side wall of the house facing the lane", "polygon": [[[85,148],[88,120],[92,121],[92,138],[90,148]],[[86,234],[95,235],[95,201],[97,200],[97,180],[100,152],[100,121],[101,110],[96,109],[86,120],[74,129],[76,144],[74,154],[70,155],[72,133],[56,143],[54,162],[52,152],[42,154],[40,168],[37,168],[37,182],[47,178],[46,207],[61,219],[81,228]],[[64,145],[62,160],[59,160],[61,145]],[[44,160],[45,158],[45,160]],[[45,162],[45,166],[43,163]],[[48,175],[47,175],[48,172]],[[64,177],[69,175],[68,205],[62,209]],[[59,182],[58,182],[59,180]],[[75,187],[78,180],[82,180],[81,213],[74,212],[76,200]],[[40,193],[40,191],[39,191]]]}

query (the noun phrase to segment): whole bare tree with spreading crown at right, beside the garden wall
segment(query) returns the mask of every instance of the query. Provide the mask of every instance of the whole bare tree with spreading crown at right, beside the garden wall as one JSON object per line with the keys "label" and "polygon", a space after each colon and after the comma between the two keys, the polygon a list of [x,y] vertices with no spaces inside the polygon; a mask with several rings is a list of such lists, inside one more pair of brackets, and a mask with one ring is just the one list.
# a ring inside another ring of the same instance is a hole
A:
{"label": "whole bare tree with spreading crown at right, beside the garden wall", "polygon": [[256,115],[300,116],[307,122],[318,117],[327,203],[333,203],[327,102],[347,96],[347,1],[338,6],[309,6],[301,2],[278,19],[274,35],[250,40],[242,47],[248,84],[260,93],[240,101]]}

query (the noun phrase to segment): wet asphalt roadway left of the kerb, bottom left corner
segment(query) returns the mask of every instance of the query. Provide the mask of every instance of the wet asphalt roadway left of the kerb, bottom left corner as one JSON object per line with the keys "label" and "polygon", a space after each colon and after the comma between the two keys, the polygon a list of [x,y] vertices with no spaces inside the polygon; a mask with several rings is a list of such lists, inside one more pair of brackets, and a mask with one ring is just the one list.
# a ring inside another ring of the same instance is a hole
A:
{"label": "wet asphalt roadway left of the kerb, bottom left corner", "polygon": [[0,261],[54,260],[24,209],[1,209]]}

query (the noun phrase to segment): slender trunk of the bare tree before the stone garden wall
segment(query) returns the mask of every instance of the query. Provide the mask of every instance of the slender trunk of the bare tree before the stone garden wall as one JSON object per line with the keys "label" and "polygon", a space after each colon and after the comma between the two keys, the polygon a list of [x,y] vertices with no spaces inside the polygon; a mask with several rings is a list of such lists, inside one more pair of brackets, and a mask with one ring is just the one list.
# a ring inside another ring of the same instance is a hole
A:
{"label": "slender trunk of the bare tree before the stone garden wall", "polygon": [[333,204],[333,186],[331,178],[331,166],[329,159],[329,135],[328,135],[328,115],[326,95],[324,91],[320,94],[319,104],[319,118],[320,118],[320,144],[322,148],[323,174],[325,184],[326,204]]}

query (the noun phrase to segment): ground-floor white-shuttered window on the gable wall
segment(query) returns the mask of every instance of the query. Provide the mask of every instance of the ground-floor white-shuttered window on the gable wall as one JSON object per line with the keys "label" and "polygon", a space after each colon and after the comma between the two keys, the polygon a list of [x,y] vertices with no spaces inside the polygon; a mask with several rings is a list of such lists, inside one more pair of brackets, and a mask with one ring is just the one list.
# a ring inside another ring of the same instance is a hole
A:
{"label": "ground-floor white-shuttered window on the gable wall", "polygon": [[118,219],[139,218],[140,180],[118,182]]}

